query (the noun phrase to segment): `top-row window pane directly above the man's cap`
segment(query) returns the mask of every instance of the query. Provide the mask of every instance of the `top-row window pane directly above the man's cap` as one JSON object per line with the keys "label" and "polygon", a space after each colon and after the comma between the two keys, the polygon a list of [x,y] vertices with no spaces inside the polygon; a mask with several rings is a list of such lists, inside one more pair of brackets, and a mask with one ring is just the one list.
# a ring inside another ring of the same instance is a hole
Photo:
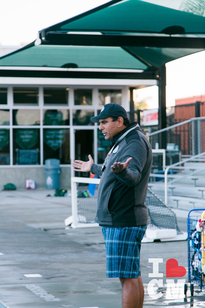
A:
{"label": "top-row window pane directly above the man's cap", "polygon": [[98,104],[105,105],[108,103],[122,104],[122,91],[111,89],[98,90]]}

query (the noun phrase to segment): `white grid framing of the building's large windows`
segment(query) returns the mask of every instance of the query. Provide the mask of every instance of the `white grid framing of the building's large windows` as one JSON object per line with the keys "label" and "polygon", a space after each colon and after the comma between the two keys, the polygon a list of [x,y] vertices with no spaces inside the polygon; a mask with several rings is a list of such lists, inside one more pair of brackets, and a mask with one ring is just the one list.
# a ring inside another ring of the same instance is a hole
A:
{"label": "white grid framing of the building's large windows", "polygon": [[[23,78],[22,78],[23,79]],[[13,99],[13,88],[26,88],[29,89],[32,88],[38,88],[38,105],[17,105],[14,104]],[[75,155],[75,140],[74,140],[74,131],[77,130],[93,130],[93,148],[94,148],[94,162],[97,163],[97,131],[98,131],[98,124],[95,123],[94,125],[73,125],[73,110],[86,110],[86,111],[94,111],[94,116],[98,114],[98,111],[101,110],[102,105],[98,104],[98,89],[110,89],[110,90],[121,90],[122,93],[122,102],[121,105],[125,109],[129,109],[129,102],[128,102],[128,86],[122,86],[122,85],[69,85],[69,84],[40,84],[40,83],[33,83],[33,84],[25,84],[23,82],[18,84],[2,84],[0,88],[7,88],[7,104],[0,104],[0,108],[6,109],[10,111],[10,124],[9,125],[0,125],[0,129],[9,129],[10,131],[10,164],[9,165],[1,165],[4,167],[34,167],[34,165],[16,165],[13,164],[13,129],[14,128],[38,128],[40,129],[40,149],[39,149],[39,155],[40,155],[40,164],[35,165],[35,167],[43,167],[44,161],[43,161],[43,129],[69,129],[70,132],[70,160],[74,159]],[[67,105],[44,105],[44,99],[43,99],[43,88],[69,88],[69,94],[68,94],[68,104]],[[74,89],[92,89],[92,104],[91,105],[75,105],[74,103]],[[40,110],[40,125],[14,125],[13,123],[13,110],[16,109],[26,109],[26,110]],[[70,123],[69,125],[44,125],[43,124],[43,111],[44,110],[52,110],[52,109],[61,109],[61,110],[69,110],[69,118]],[[71,164],[61,164],[63,167],[70,167]],[[72,170],[71,170],[72,175]]]}

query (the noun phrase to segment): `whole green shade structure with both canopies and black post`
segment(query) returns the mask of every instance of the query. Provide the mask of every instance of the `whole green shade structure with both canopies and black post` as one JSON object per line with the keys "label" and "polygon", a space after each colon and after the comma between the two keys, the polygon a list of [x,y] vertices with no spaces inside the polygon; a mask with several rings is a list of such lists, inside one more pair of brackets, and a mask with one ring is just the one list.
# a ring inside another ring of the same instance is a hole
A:
{"label": "whole green shade structure with both canopies and black post", "polygon": [[[22,71],[4,67],[22,66],[68,69],[49,72],[50,77],[156,79],[160,128],[164,128],[164,65],[205,49],[205,17],[166,7],[164,0],[158,0],[161,5],[150,2],[112,0],[42,29],[39,41],[0,58],[0,74],[20,76]],[[26,72],[26,76],[46,74]]]}

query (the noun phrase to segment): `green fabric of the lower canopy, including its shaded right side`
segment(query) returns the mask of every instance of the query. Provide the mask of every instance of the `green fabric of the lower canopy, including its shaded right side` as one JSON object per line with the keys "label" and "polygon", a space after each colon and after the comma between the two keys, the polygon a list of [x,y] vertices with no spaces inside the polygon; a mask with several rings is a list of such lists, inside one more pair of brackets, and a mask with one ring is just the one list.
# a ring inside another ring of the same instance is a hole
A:
{"label": "green fabric of the lower canopy, including its shaded right side", "polygon": [[[0,58],[0,66],[113,68],[154,71],[198,49],[37,45]],[[136,56],[137,55],[137,56]]]}

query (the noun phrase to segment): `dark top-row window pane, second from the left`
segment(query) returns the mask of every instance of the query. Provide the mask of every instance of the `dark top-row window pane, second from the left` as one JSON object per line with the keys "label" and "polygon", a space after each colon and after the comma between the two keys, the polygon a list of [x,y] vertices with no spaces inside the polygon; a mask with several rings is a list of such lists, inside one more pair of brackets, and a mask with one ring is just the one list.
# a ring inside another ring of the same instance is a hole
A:
{"label": "dark top-row window pane, second from the left", "polygon": [[38,105],[38,88],[14,88],[14,105]]}

